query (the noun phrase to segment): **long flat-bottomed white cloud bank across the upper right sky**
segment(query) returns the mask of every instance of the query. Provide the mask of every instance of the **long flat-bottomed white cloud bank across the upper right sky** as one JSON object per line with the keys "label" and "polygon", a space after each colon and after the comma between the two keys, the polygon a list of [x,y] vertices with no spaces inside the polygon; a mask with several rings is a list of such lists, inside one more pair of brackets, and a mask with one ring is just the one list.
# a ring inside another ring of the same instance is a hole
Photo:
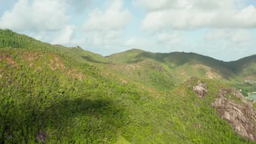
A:
{"label": "long flat-bottomed white cloud bank across the upper right sky", "polygon": [[[168,29],[252,28],[256,27],[256,8],[242,7],[240,0],[160,0],[157,10],[151,8],[152,0],[137,0],[146,3],[149,11],[141,28],[149,31]],[[137,2],[139,3],[139,2]],[[167,3],[167,5],[165,5]],[[153,11],[154,10],[154,11]]]}

